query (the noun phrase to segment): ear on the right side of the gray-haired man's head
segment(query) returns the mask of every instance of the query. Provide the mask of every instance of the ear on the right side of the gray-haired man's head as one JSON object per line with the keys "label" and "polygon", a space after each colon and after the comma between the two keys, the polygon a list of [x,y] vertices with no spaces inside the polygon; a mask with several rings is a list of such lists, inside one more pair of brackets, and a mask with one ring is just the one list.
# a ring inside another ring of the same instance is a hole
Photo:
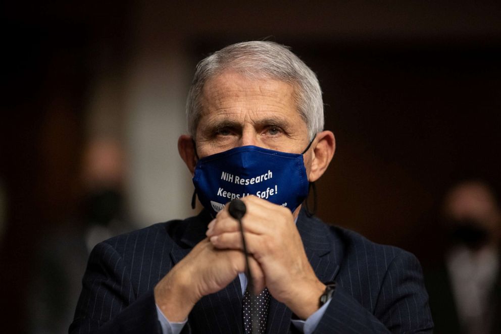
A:
{"label": "ear on the right side of the gray-haired man's head", "polygon": [[317,134],[313,143],[312,164],[308,180],[317,181],[327,170],[334,151],[336,150],[336,139],[331,131],[322,131]]}

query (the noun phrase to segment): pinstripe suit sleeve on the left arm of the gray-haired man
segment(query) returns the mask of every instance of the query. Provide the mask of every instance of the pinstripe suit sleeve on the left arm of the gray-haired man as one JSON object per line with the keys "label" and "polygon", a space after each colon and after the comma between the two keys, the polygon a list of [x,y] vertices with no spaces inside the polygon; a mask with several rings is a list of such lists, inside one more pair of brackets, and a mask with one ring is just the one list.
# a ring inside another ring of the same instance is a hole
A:
{"label": "pinstripe suit sleeve on the left arm of the gray-haired man", "polygon": [[153,290],[137,296],[110,244],[100,243],[90,254],[69,333],[162,333]]}

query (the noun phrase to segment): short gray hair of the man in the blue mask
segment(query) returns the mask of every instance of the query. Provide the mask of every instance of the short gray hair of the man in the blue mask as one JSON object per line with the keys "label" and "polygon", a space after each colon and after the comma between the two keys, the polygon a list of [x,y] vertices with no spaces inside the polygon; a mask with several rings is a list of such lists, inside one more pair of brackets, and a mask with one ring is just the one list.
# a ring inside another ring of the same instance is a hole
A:
{"label": "short gray hair of the man in the blue mask", "polygon": [[233,70],[249,79],[273,79],[294,87],[297,111],[311,139],[324,128],[322,90],[315,73],[288,47],[271,41],[232,44],[209,55],[196,66],[186,101],[188,132],[195,138],[202,113],[200,95],[213,76]]}

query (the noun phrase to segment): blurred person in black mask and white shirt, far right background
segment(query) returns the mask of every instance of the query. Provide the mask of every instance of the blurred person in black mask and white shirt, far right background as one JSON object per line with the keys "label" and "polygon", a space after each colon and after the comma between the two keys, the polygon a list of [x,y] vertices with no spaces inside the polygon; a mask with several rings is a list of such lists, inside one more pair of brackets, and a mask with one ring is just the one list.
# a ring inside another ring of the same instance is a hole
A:
{"label": "blurred person in black mask and white shirt, far right background", "polygon": [[491,187],[463,181],[447,192],[441,262],[425,270],[437,333],[501,332],[501,211]]}

